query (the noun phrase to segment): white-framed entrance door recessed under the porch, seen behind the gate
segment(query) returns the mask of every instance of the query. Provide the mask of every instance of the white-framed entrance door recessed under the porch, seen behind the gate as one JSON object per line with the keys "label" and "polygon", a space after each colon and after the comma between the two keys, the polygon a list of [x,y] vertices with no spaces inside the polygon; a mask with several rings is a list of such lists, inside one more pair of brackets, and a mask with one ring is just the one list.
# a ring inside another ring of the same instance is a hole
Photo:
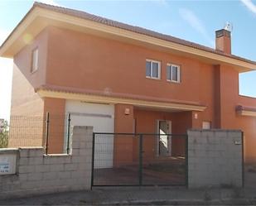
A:
{"label": "white-framed entrance door recessed under the porch, seen behind the gate", "polygon": [[158,155],[159,156],[171,156],[171,122],[162,121],[158,122]]}

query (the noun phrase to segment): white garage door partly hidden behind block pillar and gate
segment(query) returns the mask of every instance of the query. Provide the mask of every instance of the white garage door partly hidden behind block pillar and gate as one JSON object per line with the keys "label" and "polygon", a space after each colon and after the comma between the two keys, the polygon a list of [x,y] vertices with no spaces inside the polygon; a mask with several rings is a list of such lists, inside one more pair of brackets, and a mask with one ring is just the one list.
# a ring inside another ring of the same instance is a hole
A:
{"label": "white garage door partly hidden behind block pillar and gate", "polygon": [[[94,132],[114,132],[114,105],[67,100],[65,112],[71,114],[71,126],[92,126]],[[113,135],[97,135],[94,168],[113,167]]]}

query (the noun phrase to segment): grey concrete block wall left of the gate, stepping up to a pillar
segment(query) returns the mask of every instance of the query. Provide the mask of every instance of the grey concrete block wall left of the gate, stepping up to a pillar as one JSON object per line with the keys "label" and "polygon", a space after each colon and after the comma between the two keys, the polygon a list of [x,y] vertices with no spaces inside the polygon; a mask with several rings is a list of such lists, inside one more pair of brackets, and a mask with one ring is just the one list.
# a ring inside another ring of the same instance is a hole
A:
{"label": "grey concrete block wall left of the gate, stepping up to a pillar", "polygon": [[[0,199],[90,189],[93,127],[74,127],[70,155],[44,155],[42,147],[10,150],[16,174],[0,175]],[[5,151],[0,151],[0,157]]]}

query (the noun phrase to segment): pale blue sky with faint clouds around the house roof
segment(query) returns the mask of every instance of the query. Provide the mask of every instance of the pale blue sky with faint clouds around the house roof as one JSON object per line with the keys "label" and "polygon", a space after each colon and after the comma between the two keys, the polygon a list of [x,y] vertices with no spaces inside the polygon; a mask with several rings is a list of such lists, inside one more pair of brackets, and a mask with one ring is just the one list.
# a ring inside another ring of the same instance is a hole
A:
{"label": "pale blue sky with faint clouds around the house roof", "polygon": [[[256,0],[41,0],[108,17],[215,48],[215,31],[233,25],[232,54],[256,60]],[[30,0],[0,0],[0,44],[31,8]],[[255,68],[256,69],[256,68]],[[10,116],[12,60],[0,58],[0,118]],[[256,71],[240,74],[239,93],[256,98]]]}

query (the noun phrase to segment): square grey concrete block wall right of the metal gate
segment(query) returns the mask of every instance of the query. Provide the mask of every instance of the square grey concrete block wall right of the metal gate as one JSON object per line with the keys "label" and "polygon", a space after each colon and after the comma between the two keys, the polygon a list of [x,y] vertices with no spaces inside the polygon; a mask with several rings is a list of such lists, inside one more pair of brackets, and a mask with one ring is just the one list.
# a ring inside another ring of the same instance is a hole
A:
{"label": "square grey concrete block wall right of the metal gate", "polygon": [[189,130],[188,186],[241,187],[243,137],[238,130]]}

